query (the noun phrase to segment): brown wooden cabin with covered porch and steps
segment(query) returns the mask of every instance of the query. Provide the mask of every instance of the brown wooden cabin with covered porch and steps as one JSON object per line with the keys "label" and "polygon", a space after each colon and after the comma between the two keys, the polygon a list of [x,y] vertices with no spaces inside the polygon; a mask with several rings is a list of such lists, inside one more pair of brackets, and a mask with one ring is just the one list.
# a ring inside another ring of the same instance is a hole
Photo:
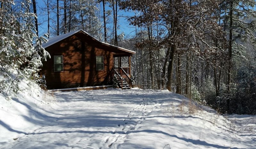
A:
{"label": "brown wooden cabin with covered porch and steps", "polygon": [[[131,50],[101,42],[83,30],[52,37],[42,46],[51,56],[40,71],[48,89],[111,85],[114,74],[120,88],[131,87]],[[128,59],[128,67],[122,67],[121,57]]]}

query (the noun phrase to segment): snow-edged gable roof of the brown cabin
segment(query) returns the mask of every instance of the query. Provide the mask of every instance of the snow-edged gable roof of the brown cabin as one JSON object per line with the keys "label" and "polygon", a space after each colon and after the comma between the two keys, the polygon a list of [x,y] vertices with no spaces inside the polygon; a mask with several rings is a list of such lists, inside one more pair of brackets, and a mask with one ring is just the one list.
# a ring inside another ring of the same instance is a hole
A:
{"label": "snow-edged gable roof of the brown cabin", "polygon": [[131,54],[135,54],[135,53],[136,53],[136,52],[134,52],[134,51],[131,51],[131,50],[128,50],[128,49],[125,49],[125,48],[117,47],[117,46],[111,45],[111,44],[109,44],[109,43],[99,41],[98,39],[92,37],[90,34],[88,34],[87,32],[85,32],[85,31],[82,30],[82,29],[79,29],[79,30],[76,30],[76,31],[73,31],[73,32],[69,32],[69,33],[66,33],[66,34],[62,34],[62,35],[59,35],[59,36],[55,36],[55,37],[52,37],[52,38],[49,38],[49,39],[48,39],[48,42],[47,42],[47,43],[43,43],[42,46],[43,46],[44,48],[47,48],[47,47],[53,45],[54,43],[57,43],[57,42],[59,42],[59,41],[61,41],[61,40],[63,40],[63,39],[66,39],[66,38],[68,38],[68,37],[70,37],[70,36],[76,34],[76,33],[79,33],[79,32],[82,32],[82,33],[84,33],[84,34],[87,34],[87,35],[88,35],[89,37],[91,37],[93,40],[96,40],[96,41],[100,42],[100,43],[103,44],[103,45],[110,46],[110,47],[112,47],[112,48],[117,48],[117,49],[119,49],[119,50],[121,50],[121,51],[125,51],[125,52],[131,53]]}

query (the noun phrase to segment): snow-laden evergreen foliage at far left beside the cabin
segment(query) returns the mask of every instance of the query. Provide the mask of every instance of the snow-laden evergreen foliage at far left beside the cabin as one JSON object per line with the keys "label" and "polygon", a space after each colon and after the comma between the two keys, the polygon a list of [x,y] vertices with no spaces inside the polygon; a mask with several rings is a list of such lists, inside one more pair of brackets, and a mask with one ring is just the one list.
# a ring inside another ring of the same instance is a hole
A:
{"label": "snow-laden evergreen foliage at far left beside the cabin", "polygon": [[[30,0],[14,11],[14,0],[1,1],[0,9],[0,90],[3,94],[17,93],[23,78],[36,80],[37,72],[48,53],[41,46],[44,38],[36,35],[35,14],[30,13]],[[36,46],[33,46],[33,41]]]}

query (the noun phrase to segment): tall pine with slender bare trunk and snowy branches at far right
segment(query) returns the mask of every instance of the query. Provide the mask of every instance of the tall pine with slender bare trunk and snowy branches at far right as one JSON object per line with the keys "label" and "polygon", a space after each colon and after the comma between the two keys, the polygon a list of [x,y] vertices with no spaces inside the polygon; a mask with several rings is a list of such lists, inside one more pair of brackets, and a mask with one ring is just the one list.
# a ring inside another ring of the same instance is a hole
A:
{"label": "tall pine with slender bare trunk and snowy branches at far right", "polygon": [[256,1],[229,0],[221,5],[221,19],[228,34],[228,78],[227,90],[230,91],[233,56],[241,55],[242,43],[256,45]]}

